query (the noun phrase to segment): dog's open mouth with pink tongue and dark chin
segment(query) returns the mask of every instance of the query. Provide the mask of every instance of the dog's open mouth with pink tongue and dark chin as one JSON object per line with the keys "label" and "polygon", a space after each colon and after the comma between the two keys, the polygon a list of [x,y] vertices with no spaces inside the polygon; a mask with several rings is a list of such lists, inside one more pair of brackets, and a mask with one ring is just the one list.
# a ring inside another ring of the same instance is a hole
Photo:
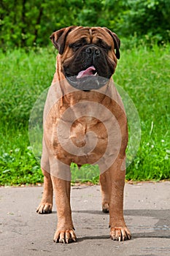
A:
{"label": "dog's open mouth with pink tongue and dark chin", "polygon": [[100,89],[106,85],[108,78],[104,78],[98,75],[98,72],[94,66],[90,66],[86,69],[80,70],[77,75],[66,75],[71,86],[82,91],[90,91],[94,89]]}

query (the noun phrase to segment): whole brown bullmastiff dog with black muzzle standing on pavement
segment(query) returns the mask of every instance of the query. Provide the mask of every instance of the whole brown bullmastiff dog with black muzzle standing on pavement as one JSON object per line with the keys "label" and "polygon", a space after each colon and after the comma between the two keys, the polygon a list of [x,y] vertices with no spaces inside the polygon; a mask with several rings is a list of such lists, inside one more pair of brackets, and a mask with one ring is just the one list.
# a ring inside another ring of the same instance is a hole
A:
{"label": "whole brown bullmastiff dog with black muzzle standing on pavement", "polygon": [[52,211],[54,191],[58,215],[54,241],[76,241],[70,165],[97,164],[110,238],[131,239],[123,218],[127,120],[112,80],[120,59],[120,39],[107,28],[82,26],[55,31],[50,39],[58,56],[44,110],[44,193],[36,211]]}

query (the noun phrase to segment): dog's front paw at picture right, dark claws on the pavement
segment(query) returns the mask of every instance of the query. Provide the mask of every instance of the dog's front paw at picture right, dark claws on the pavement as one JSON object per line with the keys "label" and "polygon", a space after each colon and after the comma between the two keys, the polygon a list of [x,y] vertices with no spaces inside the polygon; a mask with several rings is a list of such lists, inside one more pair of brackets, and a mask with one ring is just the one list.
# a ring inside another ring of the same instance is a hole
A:
{"label": "dog's front paw at picture right, dark claws on the pavement", "polygon": [[117,241],[125,241],[131,239],[131,233],[127,227],[112,227],[110,230],[110,238]]}

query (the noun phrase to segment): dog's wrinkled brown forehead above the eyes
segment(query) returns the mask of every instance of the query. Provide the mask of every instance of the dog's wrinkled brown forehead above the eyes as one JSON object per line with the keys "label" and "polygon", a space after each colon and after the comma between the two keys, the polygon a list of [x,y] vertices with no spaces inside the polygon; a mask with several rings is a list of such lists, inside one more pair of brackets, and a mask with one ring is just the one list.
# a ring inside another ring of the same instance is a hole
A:
{"label": "dog's wrinkled brown forehead above the eyes", "polygon": [[69,35],[69,42],[76,42],[80,39],[85,38],[87,43],[96,43],[99,39],[107,41],[107,44],[113,45],[113,39],[111,35],[101,27],[76,27],[73,29]]}

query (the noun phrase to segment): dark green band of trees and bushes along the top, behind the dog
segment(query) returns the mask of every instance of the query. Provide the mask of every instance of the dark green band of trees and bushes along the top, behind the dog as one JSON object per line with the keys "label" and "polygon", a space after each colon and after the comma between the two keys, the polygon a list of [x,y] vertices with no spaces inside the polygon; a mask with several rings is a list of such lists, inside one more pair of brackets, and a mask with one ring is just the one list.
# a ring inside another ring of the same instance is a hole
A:
{"label": "dark green band of trees and bushes along the top, behind the dog", "polygon": [[1,48],[45,46],[66,26],[107,26],[120,37],[169,40],[169,0],[1,0]]}

